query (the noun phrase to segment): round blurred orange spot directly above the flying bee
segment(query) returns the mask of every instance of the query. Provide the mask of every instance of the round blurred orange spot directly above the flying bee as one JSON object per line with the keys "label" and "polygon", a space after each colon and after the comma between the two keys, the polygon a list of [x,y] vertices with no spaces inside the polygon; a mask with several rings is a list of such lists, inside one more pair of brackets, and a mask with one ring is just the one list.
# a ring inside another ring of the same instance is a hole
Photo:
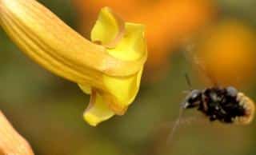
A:
{"label": "round blurred orange spot directly above the flying bee", "polygon": [[202,35],[198,58],[221,85],[246,85],[254,77],[255,32],[237,20],[224,20]]}

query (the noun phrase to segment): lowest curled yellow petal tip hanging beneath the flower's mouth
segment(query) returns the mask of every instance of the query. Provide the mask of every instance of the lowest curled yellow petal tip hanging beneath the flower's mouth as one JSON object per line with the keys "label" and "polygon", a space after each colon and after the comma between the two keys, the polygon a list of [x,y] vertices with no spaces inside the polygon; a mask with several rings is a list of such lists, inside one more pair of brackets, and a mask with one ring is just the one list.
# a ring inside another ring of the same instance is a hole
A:
{"label": "lowest curled yellow petal tip hanging beneath the flower's mouth", "polygon": [[93,126],[98,125],[102,121],[106,121],[114,116],[114,112],[104,102],[102,96],[96,91],[92,91],[90,96],[90,104],[83,114],[84,119]]}

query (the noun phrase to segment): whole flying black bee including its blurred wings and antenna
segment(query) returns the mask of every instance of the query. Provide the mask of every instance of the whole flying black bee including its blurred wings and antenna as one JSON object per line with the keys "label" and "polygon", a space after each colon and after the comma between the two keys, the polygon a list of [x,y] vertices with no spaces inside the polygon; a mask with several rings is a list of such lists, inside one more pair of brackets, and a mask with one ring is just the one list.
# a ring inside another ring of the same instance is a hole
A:
{"label": "whole flying black bee including its blurred wings and antenna", "polygon": [[[192,47],[193,48],[193,47]],[[184,109],[197,108],[210,121],[220,121],[226,124],[248,125],[254,119],[255,105],[254,101],[241,92],[238,92],[233,86],[222,87],[218,85],[214,76],[206,70],[198,58],[191,54],[190,46],[185,54],[186,60],[191,60],[197,69],[206,75],[213,84],[213,87],[206,89],[191,89],[190,79],[186,74],[186,82],[190,86],[190,92],[187,94],[185,101],[182,102],[178,119],[175,121],[173,129],[170,132],[167,142],[171,140],[175,129],[179,125]]]}

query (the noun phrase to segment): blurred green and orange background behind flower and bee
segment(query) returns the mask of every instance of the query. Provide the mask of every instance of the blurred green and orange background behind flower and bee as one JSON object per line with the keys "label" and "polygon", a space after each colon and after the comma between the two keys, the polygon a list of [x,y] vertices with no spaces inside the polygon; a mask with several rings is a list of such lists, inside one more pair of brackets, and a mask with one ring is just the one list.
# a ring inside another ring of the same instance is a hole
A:
{"label": "blurred green and orange background behind flower and bee", "polygon": [[[111,6],[126,21],[148,29],[149,62],[138,97],[122,117],[97,127],[82,119],[89,96],[22,54],[0,31],[0,109],[38,155],[254,155],[251,125],[210,123],[188,110],[170,145],[166,137],[188,89],[209,82],[186,61],[185,46],[222,85],[235,85],[256,100],[256,1],[40,0],[69,26],[90,38],[98,8]],[[154,11],[152,11],[154,10]],[[130,11],[130,12],[129,12]],[[172,12],[174,11],[174,12]],[[153,16],[153,15],[155,16]],[[192,14],[192,15],[191,15]],[[193,15],[194,14],[194,15]],[[64,37],[64,36],[63,36]],[[187,43],[186,41],[190,41]]]}

